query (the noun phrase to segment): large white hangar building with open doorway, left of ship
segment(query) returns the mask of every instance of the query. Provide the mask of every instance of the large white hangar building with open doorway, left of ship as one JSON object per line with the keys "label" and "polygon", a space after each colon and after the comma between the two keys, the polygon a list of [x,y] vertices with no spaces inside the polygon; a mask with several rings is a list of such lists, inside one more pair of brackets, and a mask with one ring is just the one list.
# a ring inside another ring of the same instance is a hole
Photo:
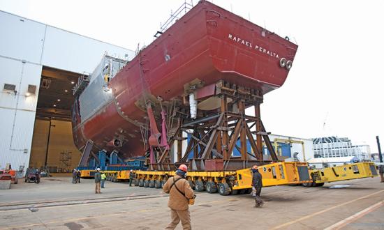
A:
{"label": "large white hangar building with open doorway, left of ship", "polygon": [[[29,167],[32,148],[37,156],[32,166],[59,167],[58,162],[69,161],[67,167],[73,167],[80,156],[71,156],[77,150],[69,151],[73,144],[64,143],[73,143],[73,84],[92,72],[105,52],[127,60],[135,53],[3,11],[0,22],[0,168]],[[63,125],[68,133],[55,131]],[[39,139],[33,140],[34,135]],[[40,137],[47,143],[40,143]],[[47,159],[54,154],[60,159]]]}

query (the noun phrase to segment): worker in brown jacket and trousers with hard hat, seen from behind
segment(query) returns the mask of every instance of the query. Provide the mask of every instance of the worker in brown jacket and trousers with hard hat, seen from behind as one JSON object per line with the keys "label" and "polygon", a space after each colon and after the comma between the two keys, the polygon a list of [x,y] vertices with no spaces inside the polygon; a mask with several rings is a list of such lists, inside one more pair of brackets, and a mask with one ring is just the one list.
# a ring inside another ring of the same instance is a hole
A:
{"label": "worker in brown jacket and trousers with hard hat, seen from behind", "polygon": [[189,216],[189,199],[193,199],[195,194],[186,180],[187,171],[185,164],[181,164],[174,177],[168,178],[163,186],[163,191],[170,194],[168,207],[170,208],[170,217],[172,221],[165,229],[175,229],[180,220],[182,220],[183,229],[191,229],[191,217]]}

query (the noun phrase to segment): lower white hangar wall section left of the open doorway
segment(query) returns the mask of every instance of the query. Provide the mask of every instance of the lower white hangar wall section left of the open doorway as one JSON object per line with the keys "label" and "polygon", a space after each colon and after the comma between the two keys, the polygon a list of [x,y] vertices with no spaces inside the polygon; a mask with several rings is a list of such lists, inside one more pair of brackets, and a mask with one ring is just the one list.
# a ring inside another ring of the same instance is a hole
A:
{"label": "lower white hangar wall section left of the open doorway", "polygon": [[[36,115],[41,66],[0,58],[5,75],[0,84],[16,85],[15,93],[1,89],[0,96],[0,168],[10,163],[14,169],[28,167]],[[36,95],[27,96],[28,85],[36,85]]]}

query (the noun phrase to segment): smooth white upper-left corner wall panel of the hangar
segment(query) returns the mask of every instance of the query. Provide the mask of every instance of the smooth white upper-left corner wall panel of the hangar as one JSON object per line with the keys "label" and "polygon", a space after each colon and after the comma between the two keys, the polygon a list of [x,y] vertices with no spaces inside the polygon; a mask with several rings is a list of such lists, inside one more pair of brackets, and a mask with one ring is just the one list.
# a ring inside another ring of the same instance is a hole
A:
{"label": "smooth white upper-left corner wall panel of the hangar", "polygon": [[0,11],[0,55],[40,63],[45,24]]}

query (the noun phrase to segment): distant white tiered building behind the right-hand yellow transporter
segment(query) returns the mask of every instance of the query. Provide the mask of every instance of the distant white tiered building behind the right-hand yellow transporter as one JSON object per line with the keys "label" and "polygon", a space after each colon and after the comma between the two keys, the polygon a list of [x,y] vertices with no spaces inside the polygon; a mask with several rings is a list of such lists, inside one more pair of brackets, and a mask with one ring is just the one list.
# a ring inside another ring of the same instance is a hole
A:
{"label": "distant white tiered building behind the right-hand yellow transporter", "polygon": [[356,157],[360,161],[371,159],[369,145],[353,145],[346,137],[314,138],[313,151],[319,158]]}

